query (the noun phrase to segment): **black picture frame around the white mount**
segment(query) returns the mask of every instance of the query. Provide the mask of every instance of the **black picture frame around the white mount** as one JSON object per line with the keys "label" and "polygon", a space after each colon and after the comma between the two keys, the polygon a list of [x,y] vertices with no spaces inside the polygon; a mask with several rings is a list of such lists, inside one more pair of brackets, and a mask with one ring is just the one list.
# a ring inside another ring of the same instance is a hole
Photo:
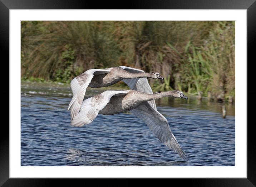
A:
{"label": "black picture frame around the white mount", "polygon": [[[63,1],[63,0],[0,0],[0,47],[1,57],[5,57],[5,61],[9,62],[9,10],[10,9],[246,9],[247,10],[247,85],[254,85],[254,77],[252,71],[255,68],[252,65],[256,62],[254,46],[256,43],[256,2],[255,0],[137,0],[137,1]],[[248,63],[250,62],[250,63]],[[254,63],[253,63],[254,62]],[[2,75],[2,88],[0,94],[2,98],[9,97],[9,84],[6,77],[9,78],[9,64],[5,65],[6,75]],[[250,64],[250,68],[248,65]],[[5,81],[3,81],[5,80]],[[249,88],[247,86],[247,88]],[[238,88],[237,88],[238,89]],[[245,92],[246,93],[246,92]],[[255,88],[247,89],[247,99],[252,95],[255,97]],[[4,103],[6,102],[6,103]],[[9,106],[6,99],[2,99],[2,106]],[[167,179],[168,182],[177,182],[179,184],[189,183],[189,186],[256,186],[256,144],[254,123],[250,123],[249,119],[254,114],[253,106],[255,100],[247,103],[247,178],[197,178],[197,179]],[[250,108],[252,110],[250,110]],[[11,112],[11,111],[9,111]],[[3,116],[2,116],[3,118]],[[253,119],[252,119],[253,120]],[[243,124],[246,125],[246,124]],[[9,178],[9,127],[2,122],[0,137],[0,186],[51,186],[53,179],[28,179],[28,178]],[[65,182],[66,185],[74,185],[74,179],[54,179]],[[83,180],[83,179],[80,179]],[[171,181],[169,181],[171,180]],[[125,182],[124,182],[125,181]],[[133,179],[124,179],[121,186],[133,184]],[[151,183],[151,180],[147,180]],[[59,181],[58,181],[59,182]],[[163,180],[166,182],[166,180]],[[159,183],[158,183],[159,184]],[[129,185],[130,186],[130,185]]]}

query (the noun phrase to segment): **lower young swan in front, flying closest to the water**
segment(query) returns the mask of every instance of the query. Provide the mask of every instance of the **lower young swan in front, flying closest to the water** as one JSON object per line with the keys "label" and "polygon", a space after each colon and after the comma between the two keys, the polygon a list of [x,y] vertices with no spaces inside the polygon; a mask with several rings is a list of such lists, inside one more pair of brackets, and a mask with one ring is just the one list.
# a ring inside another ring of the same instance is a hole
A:
{"label": "lower young swan in front, flying closest to the water", "polygon": [[179,90],[157,94],[147,94],[137,90],[107,90],[94,97],[85,99],[80,112],[71,121],[71,125],[81,127],[90,124],[98,114],[113,115],[129,111],[142,119],[147,124],[148,128],[161,142],[169,147],[169,149],[174,150],[184,160],[187,160],[187,156],[169,128],[167,119],[148,103],[148,101],[153,99],[168,96],[188,99]]}

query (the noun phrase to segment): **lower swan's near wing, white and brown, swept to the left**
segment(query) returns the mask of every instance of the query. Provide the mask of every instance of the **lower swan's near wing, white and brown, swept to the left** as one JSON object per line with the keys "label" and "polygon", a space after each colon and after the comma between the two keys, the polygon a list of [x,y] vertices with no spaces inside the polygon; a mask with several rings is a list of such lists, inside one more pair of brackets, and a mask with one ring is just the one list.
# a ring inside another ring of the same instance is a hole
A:
{"label": "lower swan's near wing, white and brown, swept to the left", "polygon": [[97,117],[100,110],[102,110],[114,95],[125,95],[127,91],[113,91],[107,90],[94,97],[85,99],[82,103],[80,112],[71,121],[71,125],[83,126],[92,123]]}

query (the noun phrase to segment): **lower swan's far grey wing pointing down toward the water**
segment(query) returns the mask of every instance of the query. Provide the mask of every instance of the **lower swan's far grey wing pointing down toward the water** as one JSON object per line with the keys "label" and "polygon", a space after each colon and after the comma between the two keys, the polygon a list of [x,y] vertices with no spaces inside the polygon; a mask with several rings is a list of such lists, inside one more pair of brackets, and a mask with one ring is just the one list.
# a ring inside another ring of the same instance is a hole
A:
{"label": "lower swan's far grey wing pointing down toward the water", "polygon": [[130,110],[130,112],[142,119],[148,128],[163,142],[169,149],[174,150],[183,159],[187,160],[187,156],[179,146],[176,138],[172,134],[167,119],[148,103],[144,103],[139,107]]}

